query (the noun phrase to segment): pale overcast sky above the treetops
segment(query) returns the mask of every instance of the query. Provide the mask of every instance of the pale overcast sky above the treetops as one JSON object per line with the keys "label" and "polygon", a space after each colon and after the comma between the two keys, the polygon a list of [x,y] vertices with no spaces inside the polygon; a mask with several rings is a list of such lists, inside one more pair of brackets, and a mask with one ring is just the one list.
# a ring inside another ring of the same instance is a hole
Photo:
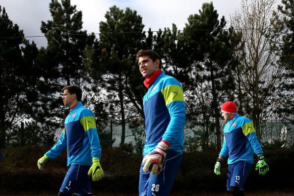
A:
{"label": "pale overcast sky above the treetops", "polygon": [[[109,7],[117,5],[120,9],[130,7],[143,18],[144,30],[172,27],[175,23],[182,30],[190,14],[199,13],[203,2],[213,2],[219,16],[230,20],[240,6],[241,0],[71,0],[77,10],[83,13],[83,29],[88,33],[99,33],[99,22],[105,21],[104,15]],[[51,0],[0,0],[10,20],[24,30],[25,36],[43,35],[41,21],[51,20],[49,3]],[[60,2],[60,0],[59,0]],[[35,41],[38,47],[46,46],[44,37],[27,38]]]}

